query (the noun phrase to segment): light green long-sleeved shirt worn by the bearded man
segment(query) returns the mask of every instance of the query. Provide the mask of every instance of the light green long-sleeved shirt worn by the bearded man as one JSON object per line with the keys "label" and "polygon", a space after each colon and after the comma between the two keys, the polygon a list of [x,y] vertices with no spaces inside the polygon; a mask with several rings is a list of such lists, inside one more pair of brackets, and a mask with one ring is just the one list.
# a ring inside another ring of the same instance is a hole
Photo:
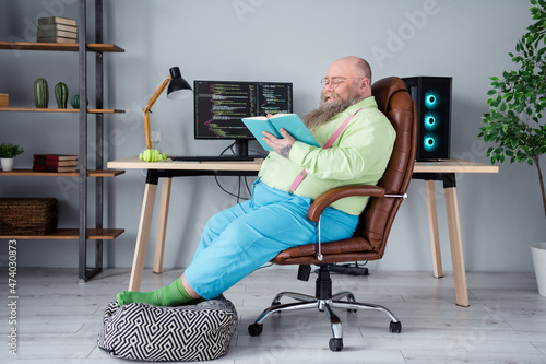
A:
{"label": "light green long-sleeved shirt worn by the bearded man", "polygon": [[[260,179],[270,187],[288,191],[305,168],[308,175],[294,195],[311,199],[339,186],[377,185],[389,163],[396,133],[389,119],[377,108],[373,96],[337,114],[320,126],[313,136],[320,145],[324,145],[340,125],[360,108],[365,109],[351,120],[329,149],[296,141],[288,158],[271,152],[262,164]],[[368,199],[347,197],[334,202],[332,208],[358,215]]]}

